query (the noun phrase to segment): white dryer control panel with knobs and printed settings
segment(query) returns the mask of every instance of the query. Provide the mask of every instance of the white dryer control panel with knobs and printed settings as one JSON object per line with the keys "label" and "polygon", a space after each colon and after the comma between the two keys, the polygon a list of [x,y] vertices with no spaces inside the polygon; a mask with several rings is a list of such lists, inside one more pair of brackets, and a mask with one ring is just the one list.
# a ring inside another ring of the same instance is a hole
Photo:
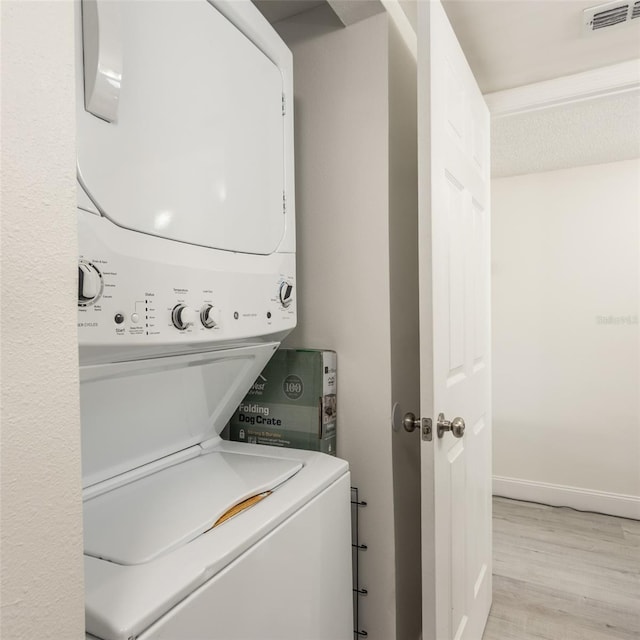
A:
{"label": "white dryer control panel with knobs and printed settings", "polygon": [[83,211],[79,218],[84,363],[281,338],[295,327],[294,254],[217,251],[131,232]]}

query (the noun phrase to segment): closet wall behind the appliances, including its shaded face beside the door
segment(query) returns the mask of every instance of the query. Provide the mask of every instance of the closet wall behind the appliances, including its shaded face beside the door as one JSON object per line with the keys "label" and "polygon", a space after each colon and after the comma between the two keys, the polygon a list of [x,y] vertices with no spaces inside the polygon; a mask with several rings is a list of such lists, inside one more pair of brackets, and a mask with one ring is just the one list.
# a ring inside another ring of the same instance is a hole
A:
{"label": "closet wall behind the appliances, including its shaded face beside the door", "polygon": [[286,346],[338,353],[338,455],[368,503],[360,628],[417,640],[419,437],[390,419],[394,400],[418,406],[415,65],[386,13],[343,28],[321,7],[276,28],[296,119],[299,316]]}

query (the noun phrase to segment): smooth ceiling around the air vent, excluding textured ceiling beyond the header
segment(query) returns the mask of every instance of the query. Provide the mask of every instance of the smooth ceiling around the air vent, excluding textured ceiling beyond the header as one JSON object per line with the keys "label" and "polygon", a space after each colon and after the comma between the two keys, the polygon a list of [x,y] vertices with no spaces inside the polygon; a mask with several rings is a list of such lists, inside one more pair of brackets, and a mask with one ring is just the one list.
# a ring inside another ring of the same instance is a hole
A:
{"label": "smooth ceiling around the air vent, excluding textured ceiling beyond the header", "polygon": [[[400,1],[415,29],[416,1],[428,0]],[[272,23],[325,4],[254,2]],[[598,4],[602,0],[443,0],[483,93],[640,58],[640,19],[582,34],[583,10]]]}

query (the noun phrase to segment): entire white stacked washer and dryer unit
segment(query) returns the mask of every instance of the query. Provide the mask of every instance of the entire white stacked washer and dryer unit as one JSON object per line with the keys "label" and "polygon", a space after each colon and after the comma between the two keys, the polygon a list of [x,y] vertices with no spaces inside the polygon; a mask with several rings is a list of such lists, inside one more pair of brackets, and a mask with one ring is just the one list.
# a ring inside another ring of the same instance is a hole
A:
{"label": "entire white stacked washer and dryer unit", "polygon": [[243,0],[76,6],[87,637],[347,640],[347,464],[219,435],[296,323],[291,54]]}

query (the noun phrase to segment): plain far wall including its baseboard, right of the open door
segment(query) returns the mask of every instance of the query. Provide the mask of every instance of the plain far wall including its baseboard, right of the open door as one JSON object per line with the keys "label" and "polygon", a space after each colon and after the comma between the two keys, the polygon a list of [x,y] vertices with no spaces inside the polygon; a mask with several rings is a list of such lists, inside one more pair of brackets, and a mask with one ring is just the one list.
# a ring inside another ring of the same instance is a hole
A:
{"label": "plain far wall including its baseboard, right of the open door", "polygon": [[640,160],[492,189],[494,492],[640,517]]}

